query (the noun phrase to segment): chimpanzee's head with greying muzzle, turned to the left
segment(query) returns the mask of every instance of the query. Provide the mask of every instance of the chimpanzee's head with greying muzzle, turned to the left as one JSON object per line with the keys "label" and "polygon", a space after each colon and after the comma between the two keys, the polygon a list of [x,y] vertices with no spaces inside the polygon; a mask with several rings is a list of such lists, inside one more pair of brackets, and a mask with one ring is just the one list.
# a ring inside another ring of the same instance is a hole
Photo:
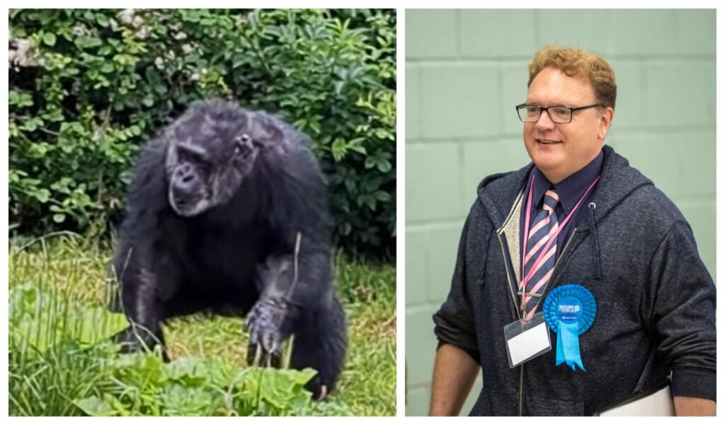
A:
{"label": "chimpanzee's head with greying muzzle, turned to the left", "polygon": [[171,130],[166,155],[168,197],[180,216],[231,200],[260,151],[250,117],[241,111],[196,114]]}

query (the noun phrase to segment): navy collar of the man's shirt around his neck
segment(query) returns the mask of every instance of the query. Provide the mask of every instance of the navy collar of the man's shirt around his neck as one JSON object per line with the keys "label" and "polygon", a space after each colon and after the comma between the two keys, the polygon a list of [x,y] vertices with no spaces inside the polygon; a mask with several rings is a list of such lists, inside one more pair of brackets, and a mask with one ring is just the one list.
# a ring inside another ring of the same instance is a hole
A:
{"label": "navy collar of the man's shirt around his neck", "polygon": [[[561,207],[567,214],[579,202],[579,198],[581,198],[581,195],[584,195],[589,185],[602,173],[602,162],[604,162],[604,153],[600,151],[599,155],[595,159],[592,159],[584,168],[566,177],[558,185],[554,185],[556,193],[559,195]],[[534,179],[534,193],[532,194],[531,203],[538,206],[544,197],[544,193],[552,187],[552,183],[539,170],[539,167],[534,166],[531,173],[536,176],[536,179]]]}

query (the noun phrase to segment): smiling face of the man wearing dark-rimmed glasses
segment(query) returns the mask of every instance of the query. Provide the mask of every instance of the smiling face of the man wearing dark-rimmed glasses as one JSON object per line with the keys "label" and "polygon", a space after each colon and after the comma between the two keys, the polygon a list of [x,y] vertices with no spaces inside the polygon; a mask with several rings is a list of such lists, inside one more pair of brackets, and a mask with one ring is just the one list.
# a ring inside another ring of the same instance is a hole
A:
{"label": "smiling face of the man wearing dark-rimmed glasses", "polygon": [[[596,104],[594,88],[582,77],[570,77],[554,67],[534,77],[527,105],[587,106]],[[537,122],[523,123],[523,143],[531,161],[554,184],[579,171],[599,154],[614,111],[608,107],[574,111],[571,122],[552,122],[542,111]]]}

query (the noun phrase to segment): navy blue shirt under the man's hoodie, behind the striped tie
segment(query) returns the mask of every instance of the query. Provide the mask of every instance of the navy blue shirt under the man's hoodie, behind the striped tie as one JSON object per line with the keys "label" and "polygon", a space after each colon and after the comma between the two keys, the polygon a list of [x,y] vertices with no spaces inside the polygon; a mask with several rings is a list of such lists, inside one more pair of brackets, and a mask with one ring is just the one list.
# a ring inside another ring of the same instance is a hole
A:
{"label": "navy blue shirt under the man's hoodie, behind the striped tie", "polygon": [[[592,185],[592,182],[594,182],[597,176],[602,173],[603,161],[604,154],[600,151],[599,155],[597,155],[597,157],[593,159],[592,162],[589,162],[589,164],[584,166],[584,168],[580,169],[578,172],[575,172],[574,174],[571,174],[571,176],[566,177],[566,179],[559,182],[558,185],[552,185],[552,183],[544,176],[544,174],[538,167],[534,166],[534,168],[531,169],[531,172],[529,172],[529,177],[526,180],[526,188],[523,188],[523,205],[521,208],[520,232],[521,251],[523,251],[523,230],[526,226],[526,205],[529,201],[531,176],[534,175],[536,178],[534,179],[534,193],[531,194],[531,216],[529,217],[529,226],[531,226],[531,224],[534,224],[534,218],[537,216],[537,214],[539,214],[539,211],[542,211],[544,194],[552,187],[559,195],[560,202],[554,209],[554,212],[556,213],[556,218],[559,222],[559,225],[561,225],[564,222],[564,219],[566,219],[567,214],[569,214],[569,212],[574,209],[574,206],[576,206],[576,203],[579,202],[579,198],[581,198],[581,195],[584,195],[584,192],[586,192],[589,186]],[[571,217],[566,227],[559,233],[559,236],[556,238],[555,258],[558,258],[559,253],[564,249],[564,245],[566,245],[566,241],[569,240],[569,237],[576,228],[576,225],[579,224],[582,219],[586,218],[587,205],[589,204],[589,199],[592,198],[592,195],[594,194],[596,188],[597,186],[595,185],[595,187],[592,188],[592,190],[587,195],[587,198],[584,198],[584,200],[581,201],[581,205],[579,206],[579,208],[576,209],[574,215]],[[523,279],[523,277],[521,278]]]}

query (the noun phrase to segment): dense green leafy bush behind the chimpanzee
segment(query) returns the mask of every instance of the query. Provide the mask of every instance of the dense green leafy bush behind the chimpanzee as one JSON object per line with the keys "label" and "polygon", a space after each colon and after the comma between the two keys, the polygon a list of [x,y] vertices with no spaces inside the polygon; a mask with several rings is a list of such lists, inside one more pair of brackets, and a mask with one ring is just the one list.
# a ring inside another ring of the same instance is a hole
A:
{"label": "dense green leafy bush behind the chimpanzee", "polygon": [[211,96],[310,135],[337,243],[394,256],[394,10],[12,10],[10,220],[106,232],[138,148]]}

